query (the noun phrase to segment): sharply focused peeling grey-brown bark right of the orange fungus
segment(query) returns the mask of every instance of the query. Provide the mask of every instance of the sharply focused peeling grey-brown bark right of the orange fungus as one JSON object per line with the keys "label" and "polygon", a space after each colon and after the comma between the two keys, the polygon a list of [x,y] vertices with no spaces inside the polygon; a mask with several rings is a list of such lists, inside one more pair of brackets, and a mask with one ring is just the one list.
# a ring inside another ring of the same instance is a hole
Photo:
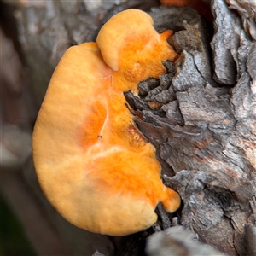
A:
{"label": "sharply focused peeling grey-brown bark right of the orange fungus", "polygon": [[164,179],[183,199],[181,223],[220,251],[245,255],[244,227],[255,218],[249,202],[256,193],[255,44],[224,1],[212,1],[212,13],[211,43],[201,39],[209,38],[203,21],[184,21],[170,39],[181,57],[175,75],[166,74],[169,88],[160,90],[160,78],[154,97],[149,91],[142,98],[159,102],[166,116],[140,109],[136,122],[163,172],[176,173]]}

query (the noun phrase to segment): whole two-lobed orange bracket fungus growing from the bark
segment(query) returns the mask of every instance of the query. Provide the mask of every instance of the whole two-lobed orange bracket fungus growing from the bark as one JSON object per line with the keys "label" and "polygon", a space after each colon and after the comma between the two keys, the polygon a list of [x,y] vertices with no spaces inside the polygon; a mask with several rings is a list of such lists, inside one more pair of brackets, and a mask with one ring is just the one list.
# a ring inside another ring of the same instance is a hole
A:
{"label": "whole two-lobed orange bracket fungus growing from the bark", "polygon": [[172,32],[158,34],[152,25],[148,14],[128,9],[102,26],[96,43],[67,49],[38,113],[32,147],[39,183],[84,230],[125,236],[154,224],[159,201],[167,212],[180,205],[123,95],[177,58],[166,42]]}

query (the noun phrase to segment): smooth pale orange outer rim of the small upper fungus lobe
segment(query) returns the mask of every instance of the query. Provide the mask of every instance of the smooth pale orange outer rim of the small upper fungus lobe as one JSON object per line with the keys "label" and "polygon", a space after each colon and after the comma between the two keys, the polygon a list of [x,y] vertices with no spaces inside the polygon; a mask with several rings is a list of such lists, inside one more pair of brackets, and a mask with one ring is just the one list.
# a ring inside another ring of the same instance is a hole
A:
{"label": "smooth pale orange outer rim of the small upper fungus lobe", "polygon": [[128,9],[113,15],[96,38],[105,63],[113,71],[118,71],[120,52],[131,44],[138,44],[142,38],[144,46],[149,44],[152,34],[155,34],[152,25],[152,18],[139,9]]}

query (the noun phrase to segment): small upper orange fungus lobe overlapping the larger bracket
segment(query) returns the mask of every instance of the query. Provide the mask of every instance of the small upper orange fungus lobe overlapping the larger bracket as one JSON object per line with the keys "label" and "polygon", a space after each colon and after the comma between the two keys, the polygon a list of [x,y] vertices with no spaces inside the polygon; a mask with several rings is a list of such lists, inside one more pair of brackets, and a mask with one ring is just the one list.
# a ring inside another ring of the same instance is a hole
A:
{"label": "small upper orange fungus lobe overlapping the larger bracket", "polygon": [[[137,83],[148,77],[158,78],[166,72],[162,61],[175,61],[177,54],[166,42],[171,31],[161,34],[154,30],[152,18],[138,9],[127,9],[114,15],[102,26],[96,44],[103,60],[118,74],[119,90],[132,90],[125,86],[127,81]],[[116,88],[118,89],[118,88]]]}

